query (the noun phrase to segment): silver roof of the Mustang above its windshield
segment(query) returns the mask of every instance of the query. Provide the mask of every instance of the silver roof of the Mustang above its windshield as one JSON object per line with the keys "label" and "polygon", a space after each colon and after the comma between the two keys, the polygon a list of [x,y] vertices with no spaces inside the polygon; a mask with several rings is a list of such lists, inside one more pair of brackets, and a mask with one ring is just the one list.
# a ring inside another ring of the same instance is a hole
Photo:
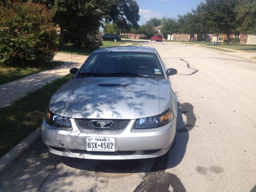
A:
{"label": "silver roof of the Mustang above its windshield", "polygon": [[108,47],[100,48],[95,50],[93,53],[100,52],[145,52],[145,53],[157,53],[155,48],[144,47],[144,46],[117,46],[117,47]]}

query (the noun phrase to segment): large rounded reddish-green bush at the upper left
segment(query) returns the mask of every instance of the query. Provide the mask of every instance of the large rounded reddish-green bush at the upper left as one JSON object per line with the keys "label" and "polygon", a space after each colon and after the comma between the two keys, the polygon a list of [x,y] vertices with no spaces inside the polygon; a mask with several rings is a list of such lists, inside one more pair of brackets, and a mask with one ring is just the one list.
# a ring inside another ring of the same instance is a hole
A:
{"label": "large rounded reddish-green bush at the upper left", "polygon": [[51,13],[31,2],[0,5],[0,64],[24,67],[51,60],[57,38]]}

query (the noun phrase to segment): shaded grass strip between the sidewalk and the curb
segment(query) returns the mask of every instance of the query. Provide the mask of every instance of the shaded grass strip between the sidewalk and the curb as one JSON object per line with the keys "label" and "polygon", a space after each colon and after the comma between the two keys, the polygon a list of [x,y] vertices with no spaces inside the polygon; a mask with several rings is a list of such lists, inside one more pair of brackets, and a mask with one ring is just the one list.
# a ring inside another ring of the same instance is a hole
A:
{"label": "shaded grass strip between the sidewalk and the curb", "polygon": [[71,77],[56,79],[0,109],[0,157],[40,126],[50,97]]}

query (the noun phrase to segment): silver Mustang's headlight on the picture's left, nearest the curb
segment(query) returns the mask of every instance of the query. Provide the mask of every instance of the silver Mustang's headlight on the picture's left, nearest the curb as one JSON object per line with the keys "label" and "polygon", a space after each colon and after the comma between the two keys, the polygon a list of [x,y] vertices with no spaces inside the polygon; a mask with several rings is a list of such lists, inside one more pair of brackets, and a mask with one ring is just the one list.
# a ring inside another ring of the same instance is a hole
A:
{"label": "silver Mustang's headlight on the picture's left, nearest the curb", "polygon": [[46,122],[55,126],[71,127],[69,117],[53,114],[50,110],[46,112]]}

